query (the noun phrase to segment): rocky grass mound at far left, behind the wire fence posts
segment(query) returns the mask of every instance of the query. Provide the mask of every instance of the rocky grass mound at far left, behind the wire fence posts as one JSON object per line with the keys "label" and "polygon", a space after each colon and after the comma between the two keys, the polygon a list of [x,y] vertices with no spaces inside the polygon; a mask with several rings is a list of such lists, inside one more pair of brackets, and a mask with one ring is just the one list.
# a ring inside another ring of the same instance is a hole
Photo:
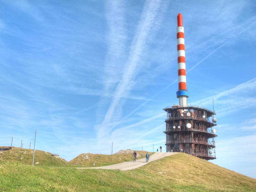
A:
{"label": "rocky grass mound at far left, behind the wire fence posts", "polygon": [[[0,151],[0,162],[20,162],[22,164],[32,165],[33,150],[13,147],[8,151]],[[35,164],[39,162],[39,164]],[[35,166],[57,166],[57,167],[71,167],[76,166],[65,159],[55,158],[51,153],[45,151],[35,151]]]}

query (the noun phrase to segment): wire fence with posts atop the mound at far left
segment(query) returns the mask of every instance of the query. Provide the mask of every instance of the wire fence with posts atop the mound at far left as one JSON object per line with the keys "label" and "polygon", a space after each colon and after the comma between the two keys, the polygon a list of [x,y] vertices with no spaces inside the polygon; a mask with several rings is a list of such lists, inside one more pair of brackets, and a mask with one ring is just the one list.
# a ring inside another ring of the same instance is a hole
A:
{"label": "wire fence with posts atop the mound at far left", "polygon": [[31,148],[31,142],[26,140],[21,140],[15,137],[1,137],[0,146],[5,147],[20,147],[20,148]]}

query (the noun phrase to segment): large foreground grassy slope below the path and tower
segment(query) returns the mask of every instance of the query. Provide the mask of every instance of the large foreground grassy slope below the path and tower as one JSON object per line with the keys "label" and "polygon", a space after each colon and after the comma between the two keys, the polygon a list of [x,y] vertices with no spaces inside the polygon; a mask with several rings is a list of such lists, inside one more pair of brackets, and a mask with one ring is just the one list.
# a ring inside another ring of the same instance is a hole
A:
{"label": "large foreground grassy slope below the path and tower", "polygon": [[248,192],[255,188],[255,179],[184,153],[131,171],[0,164],[0,191]]}

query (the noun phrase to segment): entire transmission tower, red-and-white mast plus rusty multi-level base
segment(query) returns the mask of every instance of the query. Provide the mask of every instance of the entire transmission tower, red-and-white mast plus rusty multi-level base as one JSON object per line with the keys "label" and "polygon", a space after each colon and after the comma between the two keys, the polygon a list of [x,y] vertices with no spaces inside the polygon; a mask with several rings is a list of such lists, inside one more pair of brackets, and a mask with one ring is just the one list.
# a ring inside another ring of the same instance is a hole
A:
{"label": "entire transmission tower, red-and-white mast plus rusty multi-level base", "polygon": [[[182,15],[178,14],[177,51],[179,90],[176,92],[179,105],[164,108],[167,112],[166,152],[184,152],[205,160],[216,159],[215,112],[206,108],[187,104],[188,90],[186,80],[185,41]],[[178,146],[177,146],[178,145]],[[175,147],[174,147],[175,146]]]}

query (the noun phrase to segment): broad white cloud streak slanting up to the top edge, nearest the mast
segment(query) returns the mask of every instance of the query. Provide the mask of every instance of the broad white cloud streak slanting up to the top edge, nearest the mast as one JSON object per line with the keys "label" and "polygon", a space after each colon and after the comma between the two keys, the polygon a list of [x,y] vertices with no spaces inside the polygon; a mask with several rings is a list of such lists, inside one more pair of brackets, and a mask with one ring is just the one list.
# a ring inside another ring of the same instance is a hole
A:
{"label": "broad white cloud streak slanting up to the top edge, nearest the mast", "polygon": [[[141,13],[140,21],[137,26],[135,35],[129,51],[129,57],[124,67],[124,74],[122,79],[117,84],[116,91],[105,118],[102,122],[104,127],[100,132],[106,134],[105,125],[112,121],[114,114],[122,113],[123,101],[121,98],[129,94],[133,87],[132,79],[139,73],[143,66],[141,56],[143,51],[148,46],[149,40],[153,38],[161,23],[161,16],[166,9],[166,4],[162,1],[149,1],[145,2],[143,11]],[[139,67],[140,64],[140,67]],[[108,130],[108,128],[107,128]]]}

